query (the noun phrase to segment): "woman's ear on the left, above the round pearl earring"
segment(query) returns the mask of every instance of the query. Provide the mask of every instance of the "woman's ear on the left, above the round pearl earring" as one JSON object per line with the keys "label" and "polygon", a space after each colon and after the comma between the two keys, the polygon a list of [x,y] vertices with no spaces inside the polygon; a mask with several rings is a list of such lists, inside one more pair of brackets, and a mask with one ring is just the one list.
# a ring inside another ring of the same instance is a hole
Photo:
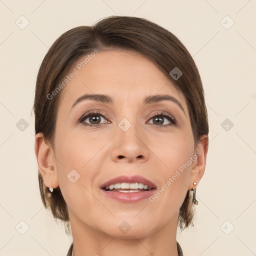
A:
{"label": "woman's ear on the left, above the round pearl earring", "polygon": [[35,135],[34,152],[44,184],[56,188],[58,179],[54,150],[45,142],[42,132]]}

